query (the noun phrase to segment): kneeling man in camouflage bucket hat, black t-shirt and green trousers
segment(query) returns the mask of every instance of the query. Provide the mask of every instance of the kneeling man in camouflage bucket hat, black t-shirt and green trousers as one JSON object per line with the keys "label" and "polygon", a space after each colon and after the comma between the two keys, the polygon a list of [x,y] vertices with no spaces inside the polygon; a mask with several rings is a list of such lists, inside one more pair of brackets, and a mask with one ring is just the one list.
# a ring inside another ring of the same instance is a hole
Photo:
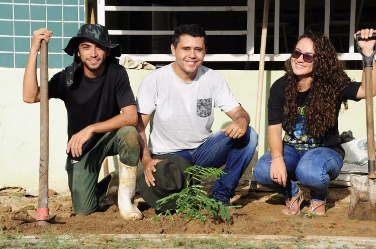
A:
{"label": "kneeling man in camouflage bucket hat, black t-shirt and green trousers", "polygon": [[[52,31],[34,31],[25,68],[23,99],[40,101],[36,68],[41,41]],[[66,170],[76,214],[95,212],[107,197],[118,194],[124,219],[141,219],[133,203],[136,191],[139,138],[134,126],[137,112],[125,68],[116,63],[121,45],[111,43],[106,27],[83,25],[64,51],[73,63],[49,81],[49,98],[64,101],[68,115]],[[119,173],[98,183],[102,162],[119,154]],[[120,178],[119,178],[120,175]]]}

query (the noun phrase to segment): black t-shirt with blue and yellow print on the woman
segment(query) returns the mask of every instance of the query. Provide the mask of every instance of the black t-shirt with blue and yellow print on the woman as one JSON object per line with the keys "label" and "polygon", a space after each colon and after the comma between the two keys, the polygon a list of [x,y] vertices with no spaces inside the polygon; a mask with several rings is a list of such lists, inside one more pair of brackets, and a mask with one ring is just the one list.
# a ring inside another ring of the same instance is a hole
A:
{"label": "black t-shirt with blue and yellow print on the woman", "polygon": [[349,82],[345,80],[342,86],[345,86],[337,97],[336,115],[337,120],[335,125],[328,129],[328,133],[323,139],[316,139],[306,135],[306,129],[304,125],[305,107],[309,98],[311,89],[304,92],[299,92],[298,95],[298,110],[297,110],[297,123],[292,128],[292,133],[289,132],[285,124],[285,90],[287,86],[285,76],[279,78],[270,87],[270,95],[268,100],[268,125],[283,124],[283,130],[285,131],[285,137],[283,143],[285,145],[292,146],[297,150],[309,150],[317,147],[327,147],[338,152],[342,158],[345,156],[345,152],[341,146],[341,138],[338,132],[338,114],[341,108],[341,103],[345,99],[356,99],[356,94],[360,87],[360,82]]}

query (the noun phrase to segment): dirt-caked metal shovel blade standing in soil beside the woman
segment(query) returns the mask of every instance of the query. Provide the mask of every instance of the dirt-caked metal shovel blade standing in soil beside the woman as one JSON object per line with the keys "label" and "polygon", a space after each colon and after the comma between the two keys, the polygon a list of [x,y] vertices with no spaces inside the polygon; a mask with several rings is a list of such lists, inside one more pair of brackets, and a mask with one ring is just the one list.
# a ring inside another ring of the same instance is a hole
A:
{"label": "dirt-caked metal shovel blade standing in soil beside the woman", "polygon": [[376,180],[368,176],[350,177],[349,219],[376,220]]}

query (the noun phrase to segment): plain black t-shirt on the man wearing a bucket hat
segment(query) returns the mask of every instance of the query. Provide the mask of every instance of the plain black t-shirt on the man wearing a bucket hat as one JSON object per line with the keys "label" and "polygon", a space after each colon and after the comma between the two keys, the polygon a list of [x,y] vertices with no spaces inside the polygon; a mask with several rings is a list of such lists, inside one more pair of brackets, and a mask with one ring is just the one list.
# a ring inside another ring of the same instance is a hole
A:
{"label": "plain black t-shirt on the man wearing a bucket hat", "polygon": [[[80,67],[74,74],[73,84],[66,86],[66,69],[55,74],[49,81],[49,97],[64,101],[68,115],[68,141],[93,123],[108,120],[120,113],[120,109],[135,105],[136,101],[125,68],[116,63],[107,63],[104,74],[88,78]],[[102,138],[103,133],[95,133],[82,146],[80,160],[86,152]]]}

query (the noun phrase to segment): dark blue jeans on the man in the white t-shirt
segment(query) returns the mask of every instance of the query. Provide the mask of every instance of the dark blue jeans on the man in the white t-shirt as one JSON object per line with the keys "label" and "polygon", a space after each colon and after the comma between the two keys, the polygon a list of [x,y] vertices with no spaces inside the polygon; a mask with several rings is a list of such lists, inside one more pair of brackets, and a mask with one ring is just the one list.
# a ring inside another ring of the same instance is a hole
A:
{"label": "dark blue jeans on the man in the white t-shirt", "polygon": [[248,127],[240,139],[226,137],[217,132],[194,150],[184,150],[173,154],[188,160],[191,165],[220,168],[226,164],[226,173],[214,183],[212,198],[216,201],[229,201],[235,196],[235,188],[247,169],[257,146],[257,133]]}

